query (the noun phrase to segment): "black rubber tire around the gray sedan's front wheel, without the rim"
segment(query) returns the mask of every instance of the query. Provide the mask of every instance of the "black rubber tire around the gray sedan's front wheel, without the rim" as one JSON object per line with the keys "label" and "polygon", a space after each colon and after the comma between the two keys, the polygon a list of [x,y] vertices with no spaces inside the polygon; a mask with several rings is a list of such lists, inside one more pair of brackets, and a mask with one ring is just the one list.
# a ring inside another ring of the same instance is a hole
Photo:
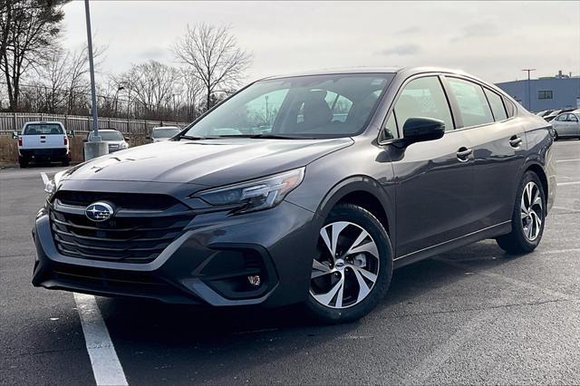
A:
{"label": "black rubber tire around the gray sedan's front wheel, without the rim", "polygon": [[[334,207],[325,219],[324,226],[338,221],[353,223],[355,226],[361,227],[372,237],[371,241],[374,241],[374,244],[377,246],[379,255],[378,263],[375,260],[375,264],[378,264],[378,273],[376,275],[376,281],[372,285],[370,292],[366,294],[366,297],[360,303],[355,303],[346,308],[332,308],[331,306],[325,306],[316,301],[312,293],[313,283],[311,283],[311,291],[309,291],[304,305],[309,314],[323,323],[347,323],[360,319],[365,314],[371,312],[382,301],[391,284],[393,257],[391,240],[384,227],[382,227],[381,222],[368,210],[352,204],[340,204]],[[352,270],[352,268],[350,269]],[[343,275],[344,277],[348,275],[346,274],[346,268],[344,268]]]}

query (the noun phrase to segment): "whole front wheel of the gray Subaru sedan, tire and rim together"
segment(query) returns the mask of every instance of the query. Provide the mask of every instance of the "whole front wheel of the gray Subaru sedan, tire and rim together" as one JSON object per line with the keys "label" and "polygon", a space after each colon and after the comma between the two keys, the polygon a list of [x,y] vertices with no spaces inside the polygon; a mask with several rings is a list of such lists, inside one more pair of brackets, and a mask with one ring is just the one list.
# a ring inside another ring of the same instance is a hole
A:
{"label": "whole front wheel of the gray Subaru sedan, tire and rim together", "polygon": [[368,314],[386,294],[392,249],[381,222],[352,204],[334,207],[320,230],[306,308],[325,323]]}

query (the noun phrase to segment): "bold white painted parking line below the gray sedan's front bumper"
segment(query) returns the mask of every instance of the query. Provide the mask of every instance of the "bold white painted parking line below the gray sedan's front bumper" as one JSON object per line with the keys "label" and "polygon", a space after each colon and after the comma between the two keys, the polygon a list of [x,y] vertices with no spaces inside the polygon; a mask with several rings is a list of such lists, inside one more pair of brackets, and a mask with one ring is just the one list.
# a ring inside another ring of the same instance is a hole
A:
{"label": "bold white painted parking line below the gray sedan's front bumper", "polygon": [[127,385],[125,372],[102,320],[97,301],[91,294],[74,293],[81,316],[82,333],[91,358],[92,373],[97,385]]}

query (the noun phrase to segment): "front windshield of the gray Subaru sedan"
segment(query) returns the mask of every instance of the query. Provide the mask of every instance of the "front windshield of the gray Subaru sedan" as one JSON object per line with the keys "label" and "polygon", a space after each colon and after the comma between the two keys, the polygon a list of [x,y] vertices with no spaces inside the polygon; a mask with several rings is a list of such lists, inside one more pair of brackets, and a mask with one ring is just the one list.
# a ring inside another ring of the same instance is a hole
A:
{"label": "front windshield of the gray Subaru sedan", "polygon": [[256,82],[189,126],[183,137],[333,138],[360,133],[394,74]]}

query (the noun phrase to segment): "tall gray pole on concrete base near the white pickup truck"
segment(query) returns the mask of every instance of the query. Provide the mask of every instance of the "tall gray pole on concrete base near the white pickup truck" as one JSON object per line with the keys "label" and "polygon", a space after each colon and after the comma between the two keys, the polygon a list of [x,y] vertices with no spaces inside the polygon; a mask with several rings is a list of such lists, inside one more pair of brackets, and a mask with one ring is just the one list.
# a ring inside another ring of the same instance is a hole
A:
{"label": "tall gray pole on concrete base near the white pickup truck", "polygon": [[92,137],[84,143],[84,158],[95,159],[109,153],[107,142],[103,142],[99,136],[99,114],[97,111],[97,89],[94,82],[94,63],[92,62],[92,35],[91,35],[91,11],[89,0],[84,0],[84,14],[87,23],[87,44],[89,54],[89,72],[91,73],[91,99],[92,99]]}

